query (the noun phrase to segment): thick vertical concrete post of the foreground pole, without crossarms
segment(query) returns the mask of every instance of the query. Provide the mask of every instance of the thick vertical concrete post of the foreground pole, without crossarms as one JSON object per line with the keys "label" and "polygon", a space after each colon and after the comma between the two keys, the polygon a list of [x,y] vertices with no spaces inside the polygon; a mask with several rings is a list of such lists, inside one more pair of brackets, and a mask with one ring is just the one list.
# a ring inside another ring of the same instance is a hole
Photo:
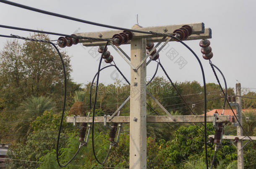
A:
{"label": "thick vertical concrete post of the foreground pole, without crossarms", "polygon": [[[146,39],[132,39],[131,64],[137,67],[145,56]],[[130,88],[130,168],[146,169],[146,60],[137,71],[131,68]]]}

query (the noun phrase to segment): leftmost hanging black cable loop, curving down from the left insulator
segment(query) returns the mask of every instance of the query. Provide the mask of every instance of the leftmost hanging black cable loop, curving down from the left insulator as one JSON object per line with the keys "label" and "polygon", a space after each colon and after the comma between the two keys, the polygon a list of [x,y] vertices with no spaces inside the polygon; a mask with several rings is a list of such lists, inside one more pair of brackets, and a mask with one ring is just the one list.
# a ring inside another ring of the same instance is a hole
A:
{"label": "leftmost hanging black cable loop, curving down from the left insulator", "polygon": [[60,161],[59,161],[59,155],[58,155],[58,151],[59,151],[59,142],[60,142],[60,132],[61,132],[61,126],[62,126],[62,122],[63,122],[63,117],[64,117],[64,112],[65,112],[65,104],[66,104],[66,94],[67,94],[67,77],[66,77],[66,71],[65,71],[65,65],[64,65],[64,61],[63,61],[63,58],[62,58],[62,55],[60,54],[60,51],[59,49],[57,48],[57,46],[50,42],[53,47],[57,50],[59,56],[60,56],[60,60],[61,60],[61,63],[62,63],[62,66],[63,66],[63,73],[64,73],[64,84],[65,84],[65,87],[64,87],[64,103],[63,103],[63,111],[62,111],[62,114],[61,114],[61,120],[60,120],[60,128],[59,128],[59,134],[58,134],[58,139],[57,139],[57,148],[56,148],[56,157],[57,157],[57,162],[59,164],[60,167],[65,167],[67,166],[69,163],[71,163],[71,161],[76,157],[76,155],[78,154],[79,150],[80,150],[80,146],[78,148],[78,150],[76,151],[76,153],[74,154],[74,156],[64,165],[60,164]]}

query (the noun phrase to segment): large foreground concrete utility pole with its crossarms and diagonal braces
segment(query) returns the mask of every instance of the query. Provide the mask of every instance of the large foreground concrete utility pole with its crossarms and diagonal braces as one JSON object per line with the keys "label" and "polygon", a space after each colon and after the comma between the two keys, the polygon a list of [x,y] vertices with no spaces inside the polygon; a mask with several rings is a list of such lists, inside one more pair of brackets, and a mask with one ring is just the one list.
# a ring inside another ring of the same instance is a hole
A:
{"label": "large foreground concrete utility pole with its crossarms and diagonal braces", "polygon": [[[192,35],[186,40],[207,39],[212,38],[212,31],[210,28],[204,28],[204,23],[190,23],[182,25],[166,25],[156,27],[141,28],[138,25],[134,25],[132,29],[142,31],[154,31],[158,33],[173,33],[174,30],[181,28],[183,25],[189,25],[192,28]],[[92,37],[92,38],[108,38],[111,39],[114,34],[121,33],[122,30],[110,30],[93,33],[78,33],[76,35]],[[95,117],[94,123],[130,123],[130,169],[146,169],[146,123],[164,123],[164,122],[204,122],[204,116],[171,116],[171,114],[157,101],[151,93],[146,91],[146,66],[151,60],[146,62],[146,58],[150,53],[146,54],[146,43],[157,42],[157,45],[152,48],[152,51],[160,47],[157,53],[169,42],[173,41],[169,37],[159,37],[152,34],[136,33],[133,32],[133,38],[131,41],[131,56],[128,56],[120,46],[115,46],[112,43],[110,45],[114,48],[118,54],[128,63],[131,67],[131,91],[130,97],[128,97],[124,103],[112,114],[112,116]],[[106,41],[94,41],[94,40],[79,40],[84,46],[99,46],[105,45]],[[162,42],[165,42],[161,45]],[[157,54],[156,53],[156,54]],[[155,54],[155,55],[156,55]],[[163,56],[164,57],[164,56]],[[157,102],[160,108],[162,108],[167,116],[146,116],[146,94],[149,94],[154,101]],[[120,108],[130,99],[130,116],[115,116]],[[230,116],[207,116],[207,122],[229,122]],[[91,123],[91,117],[67,117],[68,123]]]}

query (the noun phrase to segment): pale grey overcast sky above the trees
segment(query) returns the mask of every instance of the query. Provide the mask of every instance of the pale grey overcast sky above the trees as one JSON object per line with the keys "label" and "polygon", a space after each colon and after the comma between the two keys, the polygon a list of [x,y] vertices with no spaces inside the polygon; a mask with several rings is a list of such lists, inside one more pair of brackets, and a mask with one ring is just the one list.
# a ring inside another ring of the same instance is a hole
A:
{"label": "pale grey overcast sky above the trees", "polygon": [[[136,21],[143,27],[205,23],[205,28],[212,29],[211,47],[214,53],[212,62],[224,73],[228,87],[235,87],[239,81],[242,87],[256,88],[255,72],[255,39],[256,39],[256,1],[255,0],[187,0],[187,1],[149,1],[149,0],[13,0],[16,3],[29,5],[34,8],[55,13],[69,15],[93,22],[131,28]],[[109,28],[97,27],[71,20],[44,15],[33,11],[17,8],[0,3],[0,16],[2,25],[45,30],[57,33],[72,34],[86,33]],[[29,33],[18,30],[0,28],[0,34],[17,34],[29,36]],[[58,36],[50,35],[52,40]],[[0,38],[0,50],[3,49],[7,38]],[[185,41],[199,56],[205,70],[206,82],[217,83],[209,62],[202,58],[199,46],[200,40]],[[130,45],[121,45],[128,54]],[[72,78],[77,83],[87,83],[92,80],[97,72],[98,58],[92,56],[92,47],[80,44],[66,47],[65,50],[72,58]],[[178,52],[178,57],[183,57],[187,64],[180,66],[171,61],[166,52],[171,48]],[[130,68],[123,59],[109,47],[118,65],[125,76],[130,78]],[[166,68],[173,81],[199,81],[202,84],[202,75],[196,58],[180,43],[170,42],[169,46],[160,53],[160,61]],[[152,76],[156,63],[152,62],[147,67],[147,76]],[[164,76],[159,69],[158,76]],[[219,75],[220,76],[220,75]],[[113,83],[116,72],[113,68],[101,73],[102,83]],[[164,76],[165,77],[165,76]],[[221,81],[223,83],[223,81]],[[224,86],[224,83],[223,83]],[[255,91],[252,89],[252,91]]]}

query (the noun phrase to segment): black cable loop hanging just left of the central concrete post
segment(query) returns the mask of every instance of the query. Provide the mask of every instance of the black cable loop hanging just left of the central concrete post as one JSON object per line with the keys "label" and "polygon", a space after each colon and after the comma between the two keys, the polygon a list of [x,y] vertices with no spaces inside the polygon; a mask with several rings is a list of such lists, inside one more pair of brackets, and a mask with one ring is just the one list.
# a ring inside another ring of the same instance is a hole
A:
{"label": "black cable loop hanging just left of the central concrete post", "polygon": [[[106,50],[107,48],[107,44],[109,43],[109,41],[107,41],[103,51]],[[93,114],[92,114],[92,126],[91,126],[91,142],[92,142],[92,151],[93,151],[93,155],[94,158],[96,159],[96,161],[99,164],[104,164],[107,161],[107,157],[110,153],[110,149],[107,152],[107,156],[105,157],[103,162],[100,162],[99,159],[97,158],[97,155],[95,153],[95,149],[94,149],[94,117],[95,117],[95,107],[96,107],[96,101],[97,101],[97,94],[98,94],[98,85],[99,85],[99,72],[100,72],[100,66],[101,66],[101,62],[102,62],[102,57],[103,57],[104,52],[102,52],[100,60],[99,60],[99,67],[98,67],[98,73],[97,73],[97,81],[96,81],[96,89],[95,89],[95,98],[94,98],[94,105],[93,105]]]}

